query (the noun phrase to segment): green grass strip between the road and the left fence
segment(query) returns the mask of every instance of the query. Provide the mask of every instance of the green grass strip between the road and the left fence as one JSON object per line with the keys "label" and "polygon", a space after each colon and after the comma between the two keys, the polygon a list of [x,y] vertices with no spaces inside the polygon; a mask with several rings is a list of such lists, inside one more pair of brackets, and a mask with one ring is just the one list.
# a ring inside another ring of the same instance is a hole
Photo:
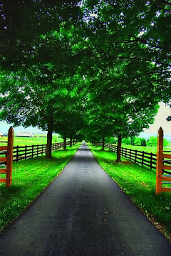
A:
{"label": "green grass strip between the road and the left fence", "polygon": [[[80,144],[58,149],[52,159],[36,157],[13,164],[12,185],[0,183],[0,231],[23,212],[48,187],[73,157]],[[0,174],[3,177],[4,174]]]}

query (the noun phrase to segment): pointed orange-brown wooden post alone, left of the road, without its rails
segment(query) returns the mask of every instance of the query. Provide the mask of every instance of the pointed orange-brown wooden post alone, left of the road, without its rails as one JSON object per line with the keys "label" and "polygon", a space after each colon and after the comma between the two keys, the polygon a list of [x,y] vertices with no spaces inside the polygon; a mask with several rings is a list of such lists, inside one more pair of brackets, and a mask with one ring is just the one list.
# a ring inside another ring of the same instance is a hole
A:
{"label": "pointed orange-brown wooden post alone, left of the road, without its rails", "polygon": [[14,146],[14,129],[13,127],[10,127],[9,134],[8,134],[8,148],[7,148],[7,159],[6,159],[6,187],[10,187],[12,182],[13,146]]}

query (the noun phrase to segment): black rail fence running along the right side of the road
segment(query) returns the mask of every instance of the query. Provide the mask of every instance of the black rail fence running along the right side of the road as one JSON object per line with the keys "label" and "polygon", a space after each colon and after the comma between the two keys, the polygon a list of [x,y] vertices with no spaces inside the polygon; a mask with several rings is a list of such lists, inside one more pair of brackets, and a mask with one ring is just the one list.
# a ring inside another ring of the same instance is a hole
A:
{"label": "black rail fence running along the right side of the road", "polygon": [[[117,152],[116,145],[105,143],[105,147],[115,153]],[[156,169],[157,154],[121,147],[121,156],[140,165],[150,167],[150,169]]]}

